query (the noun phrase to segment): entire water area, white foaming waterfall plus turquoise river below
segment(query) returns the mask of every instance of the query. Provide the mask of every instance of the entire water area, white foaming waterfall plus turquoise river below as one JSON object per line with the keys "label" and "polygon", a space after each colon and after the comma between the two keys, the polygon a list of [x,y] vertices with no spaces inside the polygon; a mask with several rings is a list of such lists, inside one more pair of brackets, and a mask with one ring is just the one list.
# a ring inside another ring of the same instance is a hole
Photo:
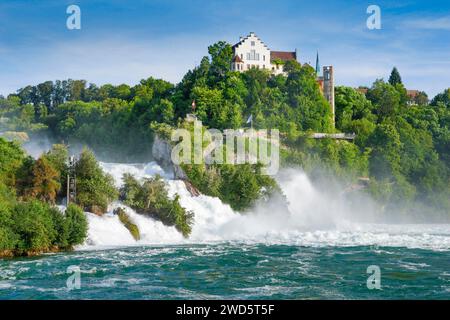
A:
{"label": "entire water area, white foaming waterfall plus turquoise river below", "polygon": [[[276,204],[242,215],[191,196],[155,163],[102,167],[118,187],[124,173],[162,175],[195,213],[190,238],[116,202],[103,217],[86,213],[88,238],[74,252],[0,260],[0,299],[450,299],[450,225],[361,222],[370,201],[349,206],[298,171],[280,181],[289,215]],[[118,206],[140,241],[112,214]]]}

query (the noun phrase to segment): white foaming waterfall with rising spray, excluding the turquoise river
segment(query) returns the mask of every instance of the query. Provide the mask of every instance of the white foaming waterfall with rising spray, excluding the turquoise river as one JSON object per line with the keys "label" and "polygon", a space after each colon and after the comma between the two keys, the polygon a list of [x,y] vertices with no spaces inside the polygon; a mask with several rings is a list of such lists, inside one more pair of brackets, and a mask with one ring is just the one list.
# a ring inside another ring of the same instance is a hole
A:
{"label": "white foaming waterfall with rising spray, excluding the turquoise river", "polygon": [[[137,178],[160,174],[169,184],[169,195],[180,195],[180,203],[195,214],[189,239],[184,239],[174,227],[137,214],[120,202],[114,203],[110,212],[102,217],[87,213],[89,234],[85,245],[79,249],[99,249],[118,246],[170,245],[184,243],[212,243],[220,241],[245,241],[247,243],[288,244],[299,246],[395,246],[450,250],[450,225],[390,225],[352,222],[355,214],[346,207],[339,195],[325,194],[311,184],[306,174],[290,171],[280,178],[280,185],[289,202],[290,215],[277,210],[257,208],[241,215],[218,198],[205,195],[193,197],[183,181],[172,180],[156,163],[110,164],[102,163],[117,187],[122,175],[131,173]],[[136,223],[141,240],[135,241],[117,216],[116,207],[123,207]]]}

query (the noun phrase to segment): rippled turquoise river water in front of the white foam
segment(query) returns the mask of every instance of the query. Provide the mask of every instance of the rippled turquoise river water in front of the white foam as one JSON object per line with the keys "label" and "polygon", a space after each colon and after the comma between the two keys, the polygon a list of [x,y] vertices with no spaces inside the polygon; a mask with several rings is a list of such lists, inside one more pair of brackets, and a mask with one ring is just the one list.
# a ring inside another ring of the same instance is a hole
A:
{"label": "rippled turquoise river water in front of the white foam", "polygon": [[[1,299],[449,299],[450,252],[221,243],[0,262]],[[367,267],[381,270],[368,289]],[[80,268],[79,289],[66,271]]]}

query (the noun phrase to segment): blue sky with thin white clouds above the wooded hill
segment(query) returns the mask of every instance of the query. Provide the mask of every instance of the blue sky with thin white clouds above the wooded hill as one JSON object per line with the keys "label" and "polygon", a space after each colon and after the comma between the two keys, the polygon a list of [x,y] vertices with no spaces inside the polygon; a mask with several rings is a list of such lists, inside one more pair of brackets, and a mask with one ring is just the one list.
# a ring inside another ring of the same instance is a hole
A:
{"label": "blue sky with thin white clouds above the wooded hill", "polygon": [[[81,30],[66,8],[81,8]],[[369,5],[382,29],[366,27]],[[371,85],[397,66],[409,89],[450,87],[450,1],[2,0],[0,94],[45,80],[178,82],[208,45],[254,31],[272,50],[333,65],[339,85]]]}

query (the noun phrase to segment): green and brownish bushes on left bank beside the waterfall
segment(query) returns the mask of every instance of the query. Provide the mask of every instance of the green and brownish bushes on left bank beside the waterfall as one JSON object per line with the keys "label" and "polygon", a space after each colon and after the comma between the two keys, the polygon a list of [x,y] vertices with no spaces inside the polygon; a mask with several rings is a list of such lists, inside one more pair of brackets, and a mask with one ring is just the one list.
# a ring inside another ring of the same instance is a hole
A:
{"label": "green and brownish bushes on left bank beside the waterfall", "polygon": [[[84,242],[88,226],[83,210],[70,204],[60,212],[54,206],[63,196],[66,155],[65,147],[56,145],[34,160],[16,143],[0,138],[0,256],[71,250]],[[81,199],[104,208],[117,191],[92,153],[84,151],[80,161]]]}

